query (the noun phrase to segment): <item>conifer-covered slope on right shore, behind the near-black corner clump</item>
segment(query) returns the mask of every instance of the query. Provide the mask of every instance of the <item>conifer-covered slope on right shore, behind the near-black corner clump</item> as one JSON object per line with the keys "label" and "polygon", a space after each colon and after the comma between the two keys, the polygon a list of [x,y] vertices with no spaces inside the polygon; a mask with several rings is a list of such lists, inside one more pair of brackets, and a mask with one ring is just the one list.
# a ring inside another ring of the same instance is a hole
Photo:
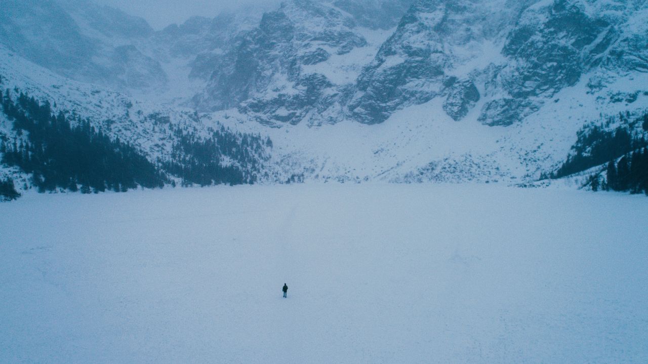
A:
{"label": "conifer-covered slope on right shore, behind the near-black corner clump", "polygon": [[647,146],[648,141],[645,136],[633,134],[632,130],[636,130],[638,123],[641,123],[639,125],[642,125],[643,129],[648,131],[648,113],[632,121],[629,118],[629,114],[619,114],[621,126],[614,130],[608,130],[610,124],[614,122],[613,119],[607,120],[604,124],[589,126],[580,130],[577,134],[578,140],[572,146],[572,153],[562,166],[549,177],[570,176],[594,166],[603,165],[618,159],[621,155]]}

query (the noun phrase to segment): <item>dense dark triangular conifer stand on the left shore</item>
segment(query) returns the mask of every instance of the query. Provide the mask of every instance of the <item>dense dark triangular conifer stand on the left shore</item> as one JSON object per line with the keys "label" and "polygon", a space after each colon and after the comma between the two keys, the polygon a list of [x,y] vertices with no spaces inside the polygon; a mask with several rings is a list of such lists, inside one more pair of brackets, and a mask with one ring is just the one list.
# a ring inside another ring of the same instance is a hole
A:
{"label": "dense dark triangular conifer stand on the left shore", "polygon": [[[2,162],[33,174],[40,192],[64,188],[82,192],[163,187],[166,179],[133,146],[96,130],[88,120],[54,115],[49,102],[9,90],[0,91],[2,109],[14,122],[20,141],[0,145]],[[71,123],[72,122],[72,123]],[[74,126],[73,126],[74,125]]]}

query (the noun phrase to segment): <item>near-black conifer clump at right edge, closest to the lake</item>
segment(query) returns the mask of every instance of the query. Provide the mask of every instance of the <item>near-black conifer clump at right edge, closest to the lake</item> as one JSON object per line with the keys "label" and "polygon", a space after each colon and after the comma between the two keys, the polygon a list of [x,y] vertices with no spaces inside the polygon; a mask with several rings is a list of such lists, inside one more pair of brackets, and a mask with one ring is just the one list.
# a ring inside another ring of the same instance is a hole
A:
{"label": "near-black conifer clump at right edge, closest to the lake", "polygon": [[610,161],[606,173],[608,190],[648,195],[648,148],[623,155],[618,162]]}

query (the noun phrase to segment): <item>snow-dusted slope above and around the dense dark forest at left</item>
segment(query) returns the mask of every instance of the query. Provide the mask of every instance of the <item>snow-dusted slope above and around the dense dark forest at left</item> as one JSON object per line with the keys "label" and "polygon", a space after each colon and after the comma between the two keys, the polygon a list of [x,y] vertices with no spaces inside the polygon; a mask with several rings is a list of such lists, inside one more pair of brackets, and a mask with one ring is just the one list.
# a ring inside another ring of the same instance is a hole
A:
{"label": "snow-dusted slope above and around the dense dark forest at left", "polygon": [[[170,182],[200,183],[196,179],[187,179],[184,172],[178,171],[178,168],[195,170],[196,163],[231,166],[242,173],[244,181],[275,180],[272,166],[266,166],[271,143],[268,141],[266,145],[266,139],[261,135],[227,130],[218,120],[205,123],[191,109],[165,108],[97,85],[62,78],[2,46],[0,86],[5,98],[16,100],[25,93],[41,103],[49,102],[54,114],[61,112],[73,120],[88,120],[96,130],[112,139],[135,146],[168,174]],[[4,111],[0,114],[0,141],[7,144],[27,142],[25,133],[14,128],[6,108]],[[211,155],[202,155],[206,152],[196,150],[196,143],[206,143],[205,148],[211,145],[215,150]],[[208,156],[215,160],[203,160]],[[32,185],[30,176],[20,173],[17,168],[0,167],[0,174],[19,177],[19,187]],[[192,176],[196,176],[195,171]]]}

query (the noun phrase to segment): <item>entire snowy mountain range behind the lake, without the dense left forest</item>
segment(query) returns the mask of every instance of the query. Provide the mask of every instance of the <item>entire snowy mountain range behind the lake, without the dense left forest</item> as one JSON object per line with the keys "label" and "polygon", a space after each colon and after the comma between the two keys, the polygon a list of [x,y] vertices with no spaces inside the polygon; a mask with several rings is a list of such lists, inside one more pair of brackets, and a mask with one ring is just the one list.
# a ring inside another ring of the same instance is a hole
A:
{"label": "entire snowy mountain range behind the lake, without the dense left forest", "polygon": [[[190,139],[209,144],[219,130],[239,144],[203,159],[244,183],[589,188],[647,137],[646,1],[292,0],[159,31],[86,0],[0,3],[12,100],[24,92],[89,119],[165,183],[187,177],[168,163],[196,167]],[[612,140],[620,131],[629,142]],[[29,142],[5,114],[0,138]],[[33,185],[24,168],[2,171]]]}

